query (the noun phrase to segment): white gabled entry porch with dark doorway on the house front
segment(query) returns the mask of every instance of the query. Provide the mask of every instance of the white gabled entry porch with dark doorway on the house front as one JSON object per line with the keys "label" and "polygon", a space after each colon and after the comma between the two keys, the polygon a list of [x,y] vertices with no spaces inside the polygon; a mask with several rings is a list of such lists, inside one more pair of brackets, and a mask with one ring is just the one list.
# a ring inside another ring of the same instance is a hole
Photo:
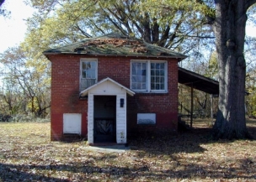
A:
{"label": "white gabled entry porch with dark doorway on the house front", "polygon": [[134,96],[135,92],[110,78],[80,92],[80,97],[88,96],[89,144],[126,143],[127,94]]}

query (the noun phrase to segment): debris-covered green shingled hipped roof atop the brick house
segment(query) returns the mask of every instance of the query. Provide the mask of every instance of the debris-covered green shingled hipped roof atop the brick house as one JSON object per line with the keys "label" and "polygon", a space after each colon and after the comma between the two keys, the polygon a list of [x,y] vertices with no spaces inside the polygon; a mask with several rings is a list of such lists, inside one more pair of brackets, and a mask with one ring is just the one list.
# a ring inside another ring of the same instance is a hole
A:
{"label": "debris-covered green shingled hipped roof atop the brick house", "polygon": [[55,49],[47,49],[43,54],[170,57],[179,60],[187,57],[172,50],[154,44],[148,44],[141,39],[134,39],[121,34],[106,34],[97,38],[83,39],[74,44],[67,44]]}

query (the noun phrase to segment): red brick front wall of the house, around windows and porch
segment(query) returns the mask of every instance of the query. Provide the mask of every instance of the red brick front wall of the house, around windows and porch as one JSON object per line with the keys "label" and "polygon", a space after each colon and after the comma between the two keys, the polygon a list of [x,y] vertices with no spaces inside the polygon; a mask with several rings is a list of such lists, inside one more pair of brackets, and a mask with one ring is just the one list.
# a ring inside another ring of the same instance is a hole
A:
{"label": "red brick front wall of the house, around windows and porch", "polygon": [[[87,135],[87,100],[80,100],[79,71],[80,59],[86,55],[49,55],[51,60],[51,140],[60,140],[63,134],[63,113],[82,113],[82,136]],[[130,88],[131,60],[129,57],[95,57],[98,59],[98,81],[109,77]],[[147,60],[147,59],[146,59]],[[151,59],[152,60],[152,59]],[[165,60],[165,59],[161,59]],[[177,131],[178,121],[178,67],[177,60],[168,61],[168,93],[139,94],[128,96],[128,133],[140,131]],[[138,126],[137,113],[156,113],[157,124]]]}

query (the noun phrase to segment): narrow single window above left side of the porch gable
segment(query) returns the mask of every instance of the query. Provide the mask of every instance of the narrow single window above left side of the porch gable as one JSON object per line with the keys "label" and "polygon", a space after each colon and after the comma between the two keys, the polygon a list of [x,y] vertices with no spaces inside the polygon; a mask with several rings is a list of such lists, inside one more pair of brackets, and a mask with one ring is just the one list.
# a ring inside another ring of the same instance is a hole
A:
{"label": "narrow single window above left side of the porch gable", "polygon": [[80,91],[93,86],[97,82],[97,60],[81,60]]}

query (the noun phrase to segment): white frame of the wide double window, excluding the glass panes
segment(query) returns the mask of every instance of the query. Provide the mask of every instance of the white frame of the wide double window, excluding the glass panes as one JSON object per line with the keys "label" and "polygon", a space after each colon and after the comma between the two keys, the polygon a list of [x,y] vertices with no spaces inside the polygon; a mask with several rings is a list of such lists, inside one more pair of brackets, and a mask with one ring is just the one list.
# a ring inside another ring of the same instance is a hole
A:
{"label": "white frame of the wide double window, excluding the glass panes", "polygon": [[[146,63],[146,89],[138,90],[132,89],[132,63]],[[164,89],[163,90],[152,90],[151,89],[151,63],[164,63]],[[131,60],[130,70],[130,88],[132,91],[141,93],[167,93],[168,92],[168,61],[166,60]]]}

